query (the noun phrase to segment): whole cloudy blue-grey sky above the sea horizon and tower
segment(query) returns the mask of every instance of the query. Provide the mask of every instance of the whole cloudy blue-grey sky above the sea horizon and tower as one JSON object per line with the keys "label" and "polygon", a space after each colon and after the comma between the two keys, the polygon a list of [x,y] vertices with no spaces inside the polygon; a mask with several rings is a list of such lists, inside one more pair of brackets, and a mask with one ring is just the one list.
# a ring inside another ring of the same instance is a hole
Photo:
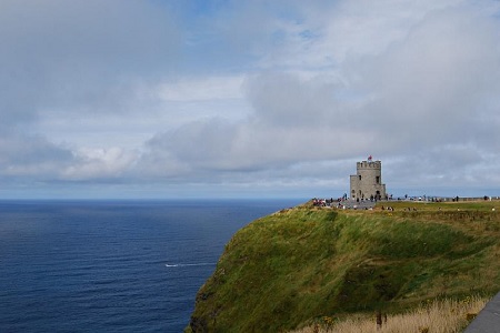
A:
{"label": "whole cloudy blue-grey sky above the sea horizon and tower", "polygon": [[500,195],[500,2],[0,0],[0,199]]}

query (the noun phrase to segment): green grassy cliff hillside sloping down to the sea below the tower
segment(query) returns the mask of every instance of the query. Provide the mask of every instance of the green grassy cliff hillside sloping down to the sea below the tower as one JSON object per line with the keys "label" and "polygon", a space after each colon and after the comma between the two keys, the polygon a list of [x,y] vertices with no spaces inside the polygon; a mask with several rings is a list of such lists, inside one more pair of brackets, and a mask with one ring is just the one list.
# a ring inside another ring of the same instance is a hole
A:
{"label": "green grassy cliff hillside sloping down to the sea below the tower", "polygon": [[280,332],[322,315],[389,313],[500,290],[499,202],[310,203],[253,221],[200,289],[188,331]]}

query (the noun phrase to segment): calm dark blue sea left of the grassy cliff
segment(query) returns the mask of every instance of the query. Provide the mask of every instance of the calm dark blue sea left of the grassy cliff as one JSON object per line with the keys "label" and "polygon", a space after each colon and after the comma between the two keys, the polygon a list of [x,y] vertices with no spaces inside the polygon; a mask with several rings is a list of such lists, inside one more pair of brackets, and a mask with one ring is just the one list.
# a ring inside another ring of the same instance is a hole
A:
{"label": "calm dark blue sea left of the grassy cliff", "polygon": [[181,332],[231,235],[297,203],[0,202],[0,332]]}

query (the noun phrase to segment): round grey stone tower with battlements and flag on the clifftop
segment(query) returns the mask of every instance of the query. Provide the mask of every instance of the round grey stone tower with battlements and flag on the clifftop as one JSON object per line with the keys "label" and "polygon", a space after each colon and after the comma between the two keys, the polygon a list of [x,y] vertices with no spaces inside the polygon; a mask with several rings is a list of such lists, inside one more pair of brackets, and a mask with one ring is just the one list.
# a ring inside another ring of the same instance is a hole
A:
{"label": "round grey stone tower with battlements and flag on the clifftop", "polygon": [[353,200],[362,199],[386,199],[386,184],[382,184],[382,162],[368,161],[358,162],[356,174],[351,174],[350,198]]}

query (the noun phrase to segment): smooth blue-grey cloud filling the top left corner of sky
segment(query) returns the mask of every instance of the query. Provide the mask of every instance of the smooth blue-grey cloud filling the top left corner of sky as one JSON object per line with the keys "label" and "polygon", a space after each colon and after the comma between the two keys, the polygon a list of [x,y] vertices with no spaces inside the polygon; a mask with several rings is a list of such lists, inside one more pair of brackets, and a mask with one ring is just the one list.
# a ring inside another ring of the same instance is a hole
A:
{"label": "smooth blue-grey cloud filling the top left corner of sky", "polygon": [[2,0],[1,8],[2,125],[36,121],[44,109],[122,111],[134,80],[177,59],[181,32],[151,2]]}

